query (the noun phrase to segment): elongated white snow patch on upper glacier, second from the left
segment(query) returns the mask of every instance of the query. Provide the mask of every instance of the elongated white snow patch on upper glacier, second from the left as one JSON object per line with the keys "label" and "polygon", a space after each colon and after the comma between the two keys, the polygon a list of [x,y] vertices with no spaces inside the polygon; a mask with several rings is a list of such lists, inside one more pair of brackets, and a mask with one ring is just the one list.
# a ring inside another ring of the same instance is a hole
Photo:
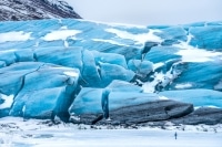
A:
{"label": "elongated white snow patch on upper glacier, second from the left", "polygon": [[78,33],[81,33],[81,31],[79,31],[79,30],[58,30],[58,31],[52,31],[51,33],[48,33],[42,39],[44,41],[67,40],[67,38],[74,36]]}

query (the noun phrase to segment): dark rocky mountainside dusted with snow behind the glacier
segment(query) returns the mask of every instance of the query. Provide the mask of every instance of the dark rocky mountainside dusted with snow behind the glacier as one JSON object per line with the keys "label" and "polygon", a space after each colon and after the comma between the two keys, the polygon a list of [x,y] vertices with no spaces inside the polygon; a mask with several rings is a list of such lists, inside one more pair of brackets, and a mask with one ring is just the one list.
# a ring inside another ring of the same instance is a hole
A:
{"label": "dark rocky mountainside dusted with snow behind the glacier", "polygon": [[0,21],[81,17],[61,0],[1,0]]}

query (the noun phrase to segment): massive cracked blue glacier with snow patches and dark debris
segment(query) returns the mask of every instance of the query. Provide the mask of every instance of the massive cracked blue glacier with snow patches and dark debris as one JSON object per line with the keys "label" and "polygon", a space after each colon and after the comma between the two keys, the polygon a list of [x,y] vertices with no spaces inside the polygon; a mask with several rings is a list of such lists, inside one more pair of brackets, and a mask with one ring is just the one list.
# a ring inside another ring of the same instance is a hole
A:
{"label": "massive cracked blue glacier with snow patches and dark debris", "polygon": [[222,123],[222,22],[0,22],[0,117]]}

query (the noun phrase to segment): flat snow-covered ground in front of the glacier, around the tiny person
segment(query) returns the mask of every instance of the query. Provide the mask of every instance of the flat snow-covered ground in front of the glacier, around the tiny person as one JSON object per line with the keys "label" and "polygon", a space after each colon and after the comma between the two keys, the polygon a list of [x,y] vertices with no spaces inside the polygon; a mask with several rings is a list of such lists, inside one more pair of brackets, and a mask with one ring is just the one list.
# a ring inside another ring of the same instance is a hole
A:
{"label": "flat snow-covered ground in front of the glacier, around the tiny person", "polygon": [[[221,147],[222,125],[139,127],[59,124],[0,118],[1,147]],[[178,134],[175,139],[174,134]]]}

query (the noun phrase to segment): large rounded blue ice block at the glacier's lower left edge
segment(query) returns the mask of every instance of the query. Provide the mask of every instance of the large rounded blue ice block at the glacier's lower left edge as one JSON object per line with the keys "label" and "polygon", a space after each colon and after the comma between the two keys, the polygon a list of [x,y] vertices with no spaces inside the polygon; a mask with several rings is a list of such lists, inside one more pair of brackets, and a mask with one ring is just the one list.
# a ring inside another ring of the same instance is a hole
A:
{"label": "large rounded blue ice block at the glacier's lower left edge", "polygon": [[10,108],[8,115],[28,118],[50,118],[53,113],[68,111],[79,80],[77,69],[40,62],[16,63],[0,72],[0,91],[11,95],[1,95],[4,103],[0,108]]}

